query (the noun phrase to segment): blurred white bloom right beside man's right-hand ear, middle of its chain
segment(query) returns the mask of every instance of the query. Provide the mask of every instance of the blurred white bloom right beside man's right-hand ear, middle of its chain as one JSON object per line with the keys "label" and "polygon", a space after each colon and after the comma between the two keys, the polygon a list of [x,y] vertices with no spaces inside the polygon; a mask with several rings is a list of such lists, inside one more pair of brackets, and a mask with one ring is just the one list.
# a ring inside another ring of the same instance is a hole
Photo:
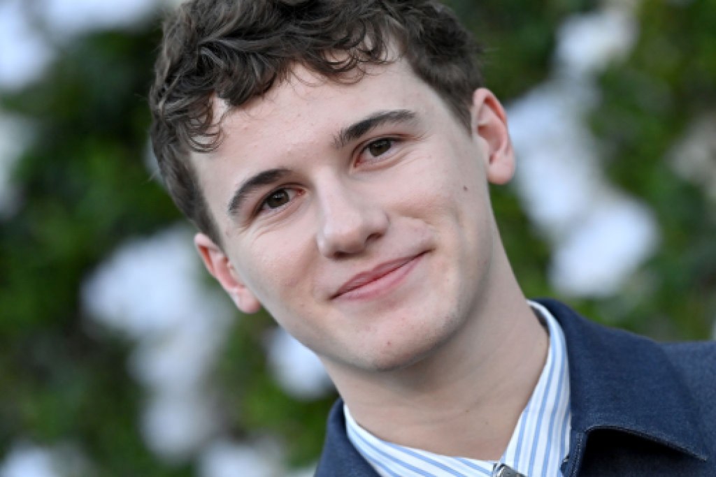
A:
{"label": "blurred white bloom right beside man's right-hand ear, middle of its chain", "polygon": [[569,86],[544,84],[508,107],[518,195],[528,215],[553,240],[574,225],[604,183],[582,119],[591,98]]}

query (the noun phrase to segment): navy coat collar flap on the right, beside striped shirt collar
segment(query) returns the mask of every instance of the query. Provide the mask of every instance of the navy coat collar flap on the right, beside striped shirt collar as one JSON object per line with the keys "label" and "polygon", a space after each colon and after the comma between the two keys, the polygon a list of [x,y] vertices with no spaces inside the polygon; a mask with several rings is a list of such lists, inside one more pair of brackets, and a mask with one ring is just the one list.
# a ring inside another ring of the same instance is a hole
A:
{"label": "navy coat collar flap on the right, beside striped shirt collar", "polygon": [[536,301],[566,339],[573,436],[624,431],[707,458],[692,397],[657,343],[591,323],[555,300]]}

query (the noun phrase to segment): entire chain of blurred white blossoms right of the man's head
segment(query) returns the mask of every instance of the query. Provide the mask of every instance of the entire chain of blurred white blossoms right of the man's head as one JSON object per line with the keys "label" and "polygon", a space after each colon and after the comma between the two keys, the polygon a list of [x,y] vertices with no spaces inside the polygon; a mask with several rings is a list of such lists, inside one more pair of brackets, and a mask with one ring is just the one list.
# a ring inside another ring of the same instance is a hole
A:
{"label": "entire chain of blurred white blossoms right of the man's head", "polygon": [[637,38],[634,6],[608,2],[567,19],[551,79],[508,108],[518,195],[551,242],[552,285],[568,295],[616,292],[659,240],[652,212],[604,177],[599,144],[585,124],[598,94],[591,79]]}

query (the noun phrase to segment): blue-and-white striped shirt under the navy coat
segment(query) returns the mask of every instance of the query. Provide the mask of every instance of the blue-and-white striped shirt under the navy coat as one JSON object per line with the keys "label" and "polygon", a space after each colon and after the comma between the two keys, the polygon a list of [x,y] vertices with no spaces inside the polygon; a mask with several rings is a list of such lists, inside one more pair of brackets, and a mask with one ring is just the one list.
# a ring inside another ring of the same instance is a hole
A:
{"label": "blue-and-white striped shirt under the navy coat", "polygon": [[528,477],[561,475],[559,466],[569,453],[571,428],[566,344],[551,313],[539,303],[529,304],[547,325],[549,350],[537,385],[500,460],[440,456],[382,441],[359,426],[344,406],[349,440],[380,476],[489,477],[500,464]]}

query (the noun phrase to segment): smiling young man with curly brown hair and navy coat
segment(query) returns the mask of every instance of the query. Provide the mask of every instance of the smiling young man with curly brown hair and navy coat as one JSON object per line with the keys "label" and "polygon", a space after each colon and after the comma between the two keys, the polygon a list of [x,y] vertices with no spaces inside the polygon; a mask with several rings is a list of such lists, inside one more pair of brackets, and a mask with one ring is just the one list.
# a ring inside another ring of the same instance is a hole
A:
{"label": "smiling young man with curly brown hair and navy coat", "polygon": [[209,272],[334,380],[317,475],[716,475],[714,345],[523,296],[476,50],[433,1],[196,0],[166,26],[155,153]]}

